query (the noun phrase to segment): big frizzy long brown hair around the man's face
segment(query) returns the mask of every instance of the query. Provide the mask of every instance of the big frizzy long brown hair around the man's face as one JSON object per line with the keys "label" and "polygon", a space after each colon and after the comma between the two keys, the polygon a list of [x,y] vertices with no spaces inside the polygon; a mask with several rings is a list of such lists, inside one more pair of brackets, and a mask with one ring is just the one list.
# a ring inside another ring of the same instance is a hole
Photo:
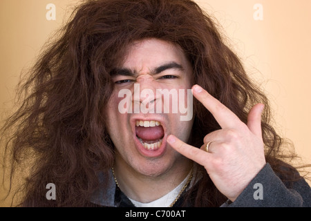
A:
{"label": "big frizzy long brown hair around the man's face", "polygon": [[[194,1],[84,1],[20,84],[20,108],[2,129],[10,132],[6,154],[12,157],[11,177],[24,160],[32,162],[19,189],[21,206],[90,206],[92,193],[105,188],[97,173],[108,173],[114,162],[104,115],[113,90],[111,70],[131,42],[147,38],[180,46],[194,68],[191,83],[207,89],[243,122],[249,108],[265,104],[266,160],[279,173],[281,166],[291,168],[279,160],[283,140],[270,126],[267,98],[247,77],[214,20]],[[220,126],[196,101],[194,117],[189,143],[201,146],[203,137]],[[220,206],[226,198],[198,168],[202,178],[188,197],[194,206]],[[57,187],[57,200],[46,200],[48,183]]]}

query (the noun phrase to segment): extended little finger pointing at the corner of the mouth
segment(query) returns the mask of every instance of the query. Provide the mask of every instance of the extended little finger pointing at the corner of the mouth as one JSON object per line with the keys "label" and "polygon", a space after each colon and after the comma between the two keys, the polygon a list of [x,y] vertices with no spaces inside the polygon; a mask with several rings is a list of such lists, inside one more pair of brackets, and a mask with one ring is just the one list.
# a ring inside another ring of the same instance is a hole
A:
{"label": "extended little finger pointing at the corner of the mouth", "polygon": [[209,154],[206,151],[203,151],[199,148],[186,144],[182,142],[174,135],[169,135],[167,137],[167,142],[174,148],[178,153],[184,155],[185,157],[189,158],[190,160],[194,160],[198,164],[205,166],[208,162]]}

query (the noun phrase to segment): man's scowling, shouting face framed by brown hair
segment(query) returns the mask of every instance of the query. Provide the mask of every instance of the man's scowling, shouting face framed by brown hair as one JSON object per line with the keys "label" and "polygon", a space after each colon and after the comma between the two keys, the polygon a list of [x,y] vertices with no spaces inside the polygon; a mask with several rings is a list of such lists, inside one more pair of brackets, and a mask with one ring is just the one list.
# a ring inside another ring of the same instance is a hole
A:
{"label": "man's scowling, shouting face framed by brown hair", "polygon": [[[185,165],[187,159],[166,139],[170,134],[184,142],[189,139],[193,120],[180,120],[185,114],[180,113],[179,105],[192,106],[192,97],[191,102],[187,97],[191,73],[191,64],[179,46],[159,39],[144,39],[129,46],[122,64],[115,68],[115,88],[107,109],[118,166],[157,177]],[[167,91],[176,92],[177,97],[164,99],[167,93],[163,92]],[[174,108],[178,108],[177,113]]]}

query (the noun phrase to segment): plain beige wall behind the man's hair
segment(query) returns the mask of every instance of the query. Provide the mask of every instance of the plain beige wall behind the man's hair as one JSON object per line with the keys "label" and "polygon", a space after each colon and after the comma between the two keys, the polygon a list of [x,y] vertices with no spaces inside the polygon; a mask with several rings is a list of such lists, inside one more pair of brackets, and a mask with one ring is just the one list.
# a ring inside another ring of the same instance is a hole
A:
{"label": "plain beige wall behind the man's hair", "polygon": [[[12,108],[21,71],[33,64],[44,42],[53,37],[77,2],[0,1],[0,119]],[[247,72],[270,97],[277,131],[292,140],[303,162],[310,164],[311,1],[197,2],[223,26]],[[55,5],[55,20],[47,19],[53,15],[46,9],[48,3]],[[0,191],[2,197],[5,191]]]}

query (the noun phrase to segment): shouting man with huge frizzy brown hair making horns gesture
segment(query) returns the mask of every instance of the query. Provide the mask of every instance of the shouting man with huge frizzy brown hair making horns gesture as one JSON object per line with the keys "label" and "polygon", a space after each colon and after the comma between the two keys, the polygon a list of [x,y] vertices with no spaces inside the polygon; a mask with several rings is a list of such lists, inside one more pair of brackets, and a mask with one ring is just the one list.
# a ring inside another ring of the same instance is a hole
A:
{"label": "shouting man with huge frizzy brown hair making horns gesture", "polygon": [[13,166],[35,156],[22,206],[311,206],[265,95],[193,1],[86,1],[30,74],[6,124]]}

